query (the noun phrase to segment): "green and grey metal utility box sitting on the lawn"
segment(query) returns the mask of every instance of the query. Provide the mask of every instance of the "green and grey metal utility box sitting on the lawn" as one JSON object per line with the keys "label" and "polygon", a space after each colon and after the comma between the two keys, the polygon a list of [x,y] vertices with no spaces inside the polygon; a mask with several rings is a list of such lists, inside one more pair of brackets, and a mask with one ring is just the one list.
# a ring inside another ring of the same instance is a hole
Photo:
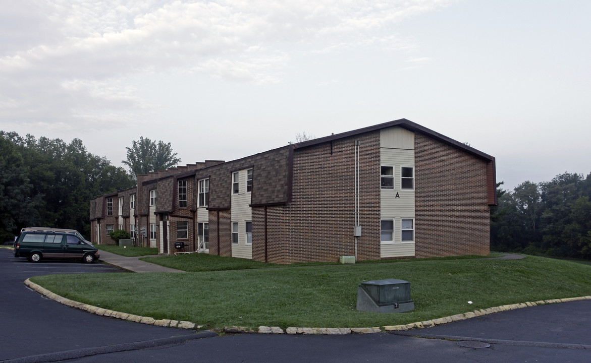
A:
{"label": "green and grey metal utility box sitting on the lawn", "polygon": [[357,288],[357,310],[374,313],[403,313],[414,310],[410,282],[387,279],[364,282]]}

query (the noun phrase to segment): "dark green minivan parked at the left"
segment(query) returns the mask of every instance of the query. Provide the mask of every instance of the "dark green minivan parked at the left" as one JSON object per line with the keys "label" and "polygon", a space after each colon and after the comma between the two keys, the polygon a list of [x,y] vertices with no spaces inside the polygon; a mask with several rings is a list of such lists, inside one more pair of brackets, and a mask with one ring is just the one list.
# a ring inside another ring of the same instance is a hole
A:
{"label": "dark green minivan parked at the left", "polygon": [[14,257],[27,257],[31,262],[42,259],[78,259],[93,263],[98,249],[74,234],[48,231],[23,231],[14,244]]}

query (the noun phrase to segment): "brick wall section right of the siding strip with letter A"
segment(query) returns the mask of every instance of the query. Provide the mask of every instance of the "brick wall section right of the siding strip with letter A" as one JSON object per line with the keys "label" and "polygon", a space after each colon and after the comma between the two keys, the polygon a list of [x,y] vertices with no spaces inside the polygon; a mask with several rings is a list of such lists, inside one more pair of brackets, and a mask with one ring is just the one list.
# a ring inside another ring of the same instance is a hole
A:
{"label": "brick wall section right of the siding strip with letter A", "polygon": [[490,251],[486,162],[415,134],[415,256]]}

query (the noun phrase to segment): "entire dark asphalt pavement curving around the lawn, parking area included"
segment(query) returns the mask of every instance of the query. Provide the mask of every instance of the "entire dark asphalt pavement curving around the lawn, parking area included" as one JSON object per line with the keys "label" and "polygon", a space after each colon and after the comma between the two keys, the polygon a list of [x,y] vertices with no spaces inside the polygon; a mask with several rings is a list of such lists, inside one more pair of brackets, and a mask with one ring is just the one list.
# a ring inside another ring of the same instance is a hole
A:
{"label": "entire dark asphalt pavement curving around the lawn, parking area included", "polygon": [[[210,334],[205,339],[193,331],[118,321],[67,308],[22,284],[39,274],[87,272],[118,270],[76,262],[31,264],[14,259],[11,251],[0,250],[0,361],[591,361],[591,300],[517,309],[400,334]],[[459,345],[487,343],[488,348]]]}

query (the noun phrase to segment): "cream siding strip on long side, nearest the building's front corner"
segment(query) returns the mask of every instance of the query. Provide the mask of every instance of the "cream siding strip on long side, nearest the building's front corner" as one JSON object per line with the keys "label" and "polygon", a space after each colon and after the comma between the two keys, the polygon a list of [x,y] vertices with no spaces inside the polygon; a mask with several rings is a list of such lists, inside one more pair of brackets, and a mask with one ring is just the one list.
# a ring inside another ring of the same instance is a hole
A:
{"label": "cream siding strip on long side, nearest the building's front corner", "polygon": [[246,221],[252,221],[252,208],[249,207],[251,193],[246,192],[246,169],[239,171],[239,191],[238,194],[232,194],[230,211],[232,222],[238,223],[238,244],[232,243],[232,257],[252,259],[252,244],[246,244],[245,224]]}

